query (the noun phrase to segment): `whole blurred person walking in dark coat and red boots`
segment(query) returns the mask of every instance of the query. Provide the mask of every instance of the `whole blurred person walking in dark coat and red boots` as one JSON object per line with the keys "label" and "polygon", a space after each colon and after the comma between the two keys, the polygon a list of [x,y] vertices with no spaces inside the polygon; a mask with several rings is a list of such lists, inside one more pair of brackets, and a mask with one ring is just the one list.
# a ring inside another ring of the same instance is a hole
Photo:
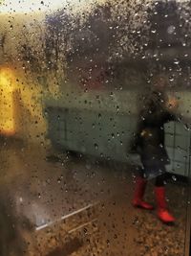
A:
{"label": "whole blurred person walking in dark coat and red boots", "polygon": [[143,199],[147,180],[156,178],[155,195],[157,213],[160,221],[174,222],[175,218],[167,209],[165,200],[165,181],[168,178],[165,165],[170,163],[164,148],[164,124],[176,120],[176,99],[168,99],[165,94],[166,80],[159,76],[151,84],[143,97],[143,106],[139,112],[138,131],[134,150],[140,155],[142,167],[139,167],[133,205],[152,210],[154,207]]}

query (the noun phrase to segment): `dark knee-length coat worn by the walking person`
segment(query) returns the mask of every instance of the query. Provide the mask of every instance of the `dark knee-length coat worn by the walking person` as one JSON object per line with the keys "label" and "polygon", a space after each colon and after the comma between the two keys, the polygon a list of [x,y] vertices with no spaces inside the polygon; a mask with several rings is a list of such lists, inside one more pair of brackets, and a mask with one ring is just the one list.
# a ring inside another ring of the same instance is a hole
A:
{"label": "dark knee-length coat worn by the walking person", "polygon": [[139,112],[136,148],[144,166],[169,164],[169,157],[164,148],[164,124],[175,120],[175,116],[166,107],[165,94],[151,91],[143,99]]}

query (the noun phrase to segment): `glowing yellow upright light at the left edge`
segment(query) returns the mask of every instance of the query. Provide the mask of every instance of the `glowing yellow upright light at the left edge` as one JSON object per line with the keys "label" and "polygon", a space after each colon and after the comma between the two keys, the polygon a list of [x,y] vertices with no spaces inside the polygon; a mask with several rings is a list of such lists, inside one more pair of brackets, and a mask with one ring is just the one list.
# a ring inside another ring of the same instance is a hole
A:
{"label": "glowing yellow upright light at the left edge", "polygon": [[14,133],[13,74],[10,68],[0,68],[0,134]]}

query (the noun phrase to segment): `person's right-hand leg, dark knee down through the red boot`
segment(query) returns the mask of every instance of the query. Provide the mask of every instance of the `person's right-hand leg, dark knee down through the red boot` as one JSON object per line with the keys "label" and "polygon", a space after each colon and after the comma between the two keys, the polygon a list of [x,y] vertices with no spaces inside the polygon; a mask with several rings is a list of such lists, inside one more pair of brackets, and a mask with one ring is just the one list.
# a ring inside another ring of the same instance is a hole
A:
{"label": "person's right-hand leg, dark knee down through the red boot", "polygon": [[[163,169],[165,171],[165,168]],[[169,223],[174,222],[175,218],[170,214],[167,209],[167,202],[165,199],[165,181],[168,178],[168,174],[164,173],[156,178],[155,194],[158,204],[158,217],[160,221]]]}

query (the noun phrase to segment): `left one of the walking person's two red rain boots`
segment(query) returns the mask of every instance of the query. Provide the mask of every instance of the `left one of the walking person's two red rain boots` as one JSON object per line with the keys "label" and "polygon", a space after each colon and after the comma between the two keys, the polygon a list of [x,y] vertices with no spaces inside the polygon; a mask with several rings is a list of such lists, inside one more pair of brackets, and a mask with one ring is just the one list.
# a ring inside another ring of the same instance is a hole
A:
{"label": "left one of the walking person's two red rain boots", "polygon": [[137,177],[133,205],[134,207],[140,207],[146,210],[153,210],[154,207],[148,202],[143,200],[146,184],[147,184],[147,181],[144,178],[140,176]]}

